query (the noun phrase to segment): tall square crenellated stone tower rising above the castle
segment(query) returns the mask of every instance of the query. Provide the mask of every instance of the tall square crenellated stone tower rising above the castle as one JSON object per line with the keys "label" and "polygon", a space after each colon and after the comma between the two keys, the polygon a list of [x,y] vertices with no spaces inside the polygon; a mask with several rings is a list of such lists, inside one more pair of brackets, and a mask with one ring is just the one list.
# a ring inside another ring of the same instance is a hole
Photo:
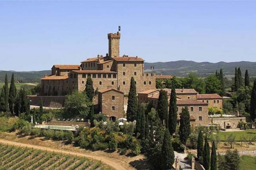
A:
{"label": "tall square crenellated stone tower rising above the castle", "polygon": [[108,34],[109,39],[109,56],[110,57],[119,57],[119,40],[121,38],[121,34],[119,32],[113,34]]}

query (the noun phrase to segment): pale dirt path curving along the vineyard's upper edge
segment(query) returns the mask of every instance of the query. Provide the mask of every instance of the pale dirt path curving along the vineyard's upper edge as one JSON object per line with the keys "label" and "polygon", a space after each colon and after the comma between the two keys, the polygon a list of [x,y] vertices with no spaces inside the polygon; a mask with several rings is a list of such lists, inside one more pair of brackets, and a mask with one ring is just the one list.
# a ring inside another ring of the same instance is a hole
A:
{"label": "pale dirt path curving along the vineyard's upper edge", "polygon": [[8,144],[8,145],[16,145],[16,146],[21,146],[21,147],[35,148],[35,149],[41,149],[41,150],[45,150],[45,151],[53,151],[53,152],[58,152],[58,153],[63,153],[63,154],[73,154],[73,155],[77,155],[77,156],[81,156],[81,157],[91,157],[95,160],[102,161],[102,163],[107,164],[116,170],[133,170],[134,169],[133,167],[130,167],[130,165],[126,162],[116,160],[116,159],[110,159],[107,157],[100,157],[100,156],[84,154],[84,153],[80,153],[80,152],[64,151],[64,150],[60,150],[60,149],[52,149],[52,148],[38,146],[38,145],[29,145],[29,144],[24,144],[24,143],[19,143],[19,142],[8,141],[8,140],[4,140],[4,139],[0,139],[0,142],[3,144]]}

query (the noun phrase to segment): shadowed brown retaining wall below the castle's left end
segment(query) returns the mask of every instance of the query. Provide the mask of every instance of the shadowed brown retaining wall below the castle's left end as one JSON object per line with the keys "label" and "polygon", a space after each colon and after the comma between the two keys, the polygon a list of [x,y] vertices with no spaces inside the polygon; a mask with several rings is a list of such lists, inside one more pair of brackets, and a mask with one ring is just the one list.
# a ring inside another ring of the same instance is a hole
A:
{"label": "shadowed brown retaining wall below the castle's left end", "polygon": [[42,99],[44,107],[62,108],[66,100],[66,96],[28,96],[30,105],[39,106]]}

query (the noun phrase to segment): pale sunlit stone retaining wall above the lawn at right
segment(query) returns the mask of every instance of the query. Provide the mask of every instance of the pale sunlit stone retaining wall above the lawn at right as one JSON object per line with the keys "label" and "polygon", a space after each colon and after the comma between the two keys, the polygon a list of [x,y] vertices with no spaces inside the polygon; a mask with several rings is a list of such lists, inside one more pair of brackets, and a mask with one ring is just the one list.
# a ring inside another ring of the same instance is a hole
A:
{"label": "pale sunlit stone retaining wall above the lawn at right", "polygon": [[208,118],[209,123],[219,124],[220,128],[225,128],[227,123],[230,125],[230,128],[237,128],[237,124],[240,120],[246,122],[246,117],[214,117]]}

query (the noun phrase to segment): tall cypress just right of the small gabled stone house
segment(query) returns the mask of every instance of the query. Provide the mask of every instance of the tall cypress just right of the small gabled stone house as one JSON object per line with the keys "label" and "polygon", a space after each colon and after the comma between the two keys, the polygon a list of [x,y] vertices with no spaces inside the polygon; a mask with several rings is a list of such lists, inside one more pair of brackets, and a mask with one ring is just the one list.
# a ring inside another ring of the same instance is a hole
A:
{"label": "tall cypress just right of the small gabled stone house", "polygon": [[136,92],[136,85],[135,85],[134,78],[131,77],[130,90],[128,94],[128,105],[127,105],[127,111],[126,111],[127,120],[129,122],[134,121],[136,119],[137,111],[138,111],[138,98],[137,98],[137,92]]}

